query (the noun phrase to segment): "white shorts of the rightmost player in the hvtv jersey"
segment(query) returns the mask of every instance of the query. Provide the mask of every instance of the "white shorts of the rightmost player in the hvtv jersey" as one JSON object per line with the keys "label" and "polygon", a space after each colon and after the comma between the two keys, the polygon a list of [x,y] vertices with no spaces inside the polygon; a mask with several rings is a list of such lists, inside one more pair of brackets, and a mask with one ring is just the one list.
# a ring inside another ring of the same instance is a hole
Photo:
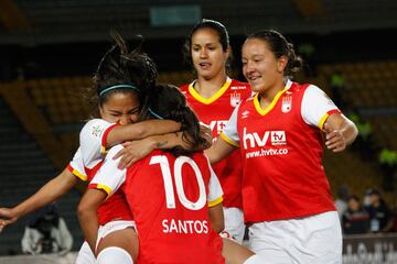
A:
{"label": "white shorts of the rightmost player in the hvtv jersey", "polygon": [[336,211],[255,223],[249,249],[272,264],[342,264],[342,230]]}

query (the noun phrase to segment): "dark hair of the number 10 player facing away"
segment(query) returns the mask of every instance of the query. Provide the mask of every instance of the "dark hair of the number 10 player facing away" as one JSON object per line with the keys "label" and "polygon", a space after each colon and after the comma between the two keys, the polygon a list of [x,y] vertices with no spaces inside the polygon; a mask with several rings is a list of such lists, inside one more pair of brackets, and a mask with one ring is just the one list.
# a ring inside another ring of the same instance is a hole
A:
{"label": "dark hair of the number 10 player facing away", "polygon": [[187,155],[193,153],[193,150],[198,145],[206,144],[206,140],[200,134],[200,123],[196,114],[187,107],[185,96],[176,86],[157,85],[149,101],[150,111],[147,113],[147,119],[153,119],[158,116],[162,119],[180,122],[181,131],[183,131],[182,140],[189,143],[192,150],[186,151],[181,146],[176,146],[170,150],[171,153],[174,155]]}

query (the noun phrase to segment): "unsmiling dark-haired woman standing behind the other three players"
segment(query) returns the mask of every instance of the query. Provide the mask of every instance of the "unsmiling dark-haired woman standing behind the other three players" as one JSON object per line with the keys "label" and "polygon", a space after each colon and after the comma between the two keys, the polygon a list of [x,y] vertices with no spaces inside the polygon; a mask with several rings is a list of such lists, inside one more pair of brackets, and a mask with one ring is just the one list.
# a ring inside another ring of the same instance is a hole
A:
{"label": "unsmiling dark-haired woman standing behind the other three players", "polygon": [[[202,20],[189,35],[185,47],[187,62],[197,79],[183,85],[181,91],[201,122],[210,125],[216,139],[235,107],[251,95],[246,82],[227,76],[232,50],[226,28],[214,20]],[[233,166],[230,166],[233,164]],[[243,242],[245,224],[242,204],[243,165],[238,151],[214,165],[224,190],[225,233]]]}

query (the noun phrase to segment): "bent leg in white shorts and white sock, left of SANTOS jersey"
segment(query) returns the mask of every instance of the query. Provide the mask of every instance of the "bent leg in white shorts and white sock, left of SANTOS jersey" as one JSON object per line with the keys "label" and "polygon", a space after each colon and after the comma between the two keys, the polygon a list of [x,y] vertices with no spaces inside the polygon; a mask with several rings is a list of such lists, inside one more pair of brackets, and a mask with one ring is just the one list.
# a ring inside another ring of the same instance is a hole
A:
{"label": "bent leg in white shorts and white sock, left of SANTOS jersey", "polygon": [[96,253],[98,261],[100,255],[101,263],[105,260],[107,263],[122,263],[119,261],[128,258],[124,256],[125,253],[131,258],[126,263],[135,263],[138,251],[139,241],[133,221],[112,221],[99,229]]}

